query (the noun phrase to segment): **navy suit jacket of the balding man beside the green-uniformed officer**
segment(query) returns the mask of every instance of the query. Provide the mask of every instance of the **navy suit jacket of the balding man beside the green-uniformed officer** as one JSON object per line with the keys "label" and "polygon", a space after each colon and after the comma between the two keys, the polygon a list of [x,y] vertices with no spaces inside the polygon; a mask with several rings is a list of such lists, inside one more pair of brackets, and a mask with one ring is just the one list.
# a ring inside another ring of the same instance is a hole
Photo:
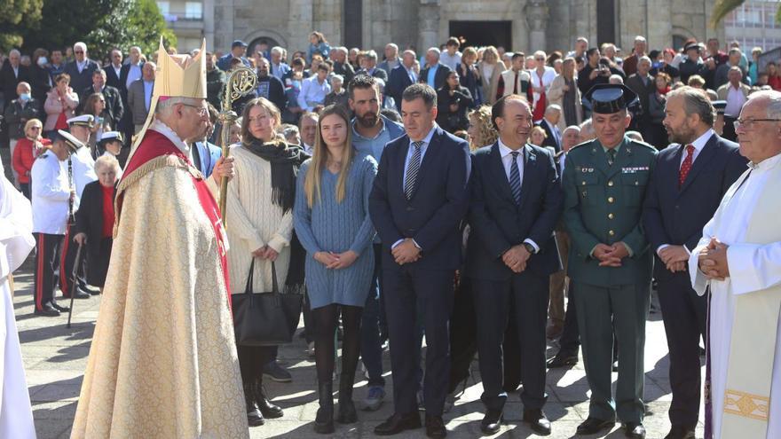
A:
{"label": "navy suit jacket of the balding man beside the green-uniformed officer", "polygon": [[499,142],[473,153],[466,263],[469,278],[510,278],[513,271],[501,255],[525,239],[540,247],[540,252],[529,258],[526,270],[549,276],[562,269],[553,231],[564,210],[564,192],[553,154],[529,144],[523,153],[520,205],[513,198]]}

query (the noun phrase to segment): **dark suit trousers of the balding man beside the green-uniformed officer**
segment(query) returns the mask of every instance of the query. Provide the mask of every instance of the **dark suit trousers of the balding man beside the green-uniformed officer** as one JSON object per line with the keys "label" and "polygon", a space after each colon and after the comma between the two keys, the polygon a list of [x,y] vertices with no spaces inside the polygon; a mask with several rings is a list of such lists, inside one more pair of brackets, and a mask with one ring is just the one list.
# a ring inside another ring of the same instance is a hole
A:
{"label": "dark suit trousers of the balding man beside the green-uniformed officer", "polygon": [[[545,393],[545,326],[550,299],[548,276],[525,271],[514,274],[506,281],[476,279],[475,286],[477,351],[483,380],[483,404],[489,410],[501,411],[507,401],[502,382],[501,346],[508,321],[515,320],[520,346],[520,370],[524,380],[521,401],[525,410],[542,408],[548,400]],[[511,299],[515,299],[515,302]]]}

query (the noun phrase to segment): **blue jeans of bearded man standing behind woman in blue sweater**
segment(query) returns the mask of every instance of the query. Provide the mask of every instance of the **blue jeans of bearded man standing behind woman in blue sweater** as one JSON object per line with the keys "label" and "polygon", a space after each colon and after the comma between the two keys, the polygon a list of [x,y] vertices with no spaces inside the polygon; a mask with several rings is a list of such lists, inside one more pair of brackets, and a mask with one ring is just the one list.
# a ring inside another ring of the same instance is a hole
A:
{"label": "blue jeans of bearded man standing behind woman in blue sweater", "polygon": [[368,386],[385,387],[383,378],[383,344],[380,337],[380,285],[382,272],[382,252],[380,244],[374,244],[375,272],[369,286],[367,302],[363,309],[360,324],[360,357],[369,374]]}

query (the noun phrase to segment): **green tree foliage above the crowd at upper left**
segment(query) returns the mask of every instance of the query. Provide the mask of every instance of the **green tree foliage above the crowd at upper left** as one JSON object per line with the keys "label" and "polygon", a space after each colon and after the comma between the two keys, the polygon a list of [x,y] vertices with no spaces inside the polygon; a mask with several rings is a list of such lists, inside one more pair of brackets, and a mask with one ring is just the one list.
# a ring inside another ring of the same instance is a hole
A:
{"label": "green tree foliage above the crowd at upper left", "polygon": [[[9,1],[43,2],[39,20],[20,23],[24,52],[31,53],[38,47],[64,48],[83,41],[90,58],[102,59],[114,47],[127,52],[130,46],[138,45],[144,53],[150,53],[157,49],[161,35],[166,43],[176,44],[176,35],[166,27],[154,0],[0,0],[0,5]],[[0,6],[0,26],[3,20]],[[0,33],[0,38],[3,35]]]}

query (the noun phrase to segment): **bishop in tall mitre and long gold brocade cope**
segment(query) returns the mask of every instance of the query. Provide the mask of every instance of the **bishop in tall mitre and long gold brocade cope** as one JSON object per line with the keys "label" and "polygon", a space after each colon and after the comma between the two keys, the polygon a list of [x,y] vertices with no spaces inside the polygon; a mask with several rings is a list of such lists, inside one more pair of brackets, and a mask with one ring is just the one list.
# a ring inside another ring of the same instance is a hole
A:
{"label": "bishop in tall mitre and long gold brocade cope", "polygon": [[149,117],[114,201],[114,246],[74,438],[248,438],[227,240],[190,145],[209,119],[205,47],[160,44]]}

